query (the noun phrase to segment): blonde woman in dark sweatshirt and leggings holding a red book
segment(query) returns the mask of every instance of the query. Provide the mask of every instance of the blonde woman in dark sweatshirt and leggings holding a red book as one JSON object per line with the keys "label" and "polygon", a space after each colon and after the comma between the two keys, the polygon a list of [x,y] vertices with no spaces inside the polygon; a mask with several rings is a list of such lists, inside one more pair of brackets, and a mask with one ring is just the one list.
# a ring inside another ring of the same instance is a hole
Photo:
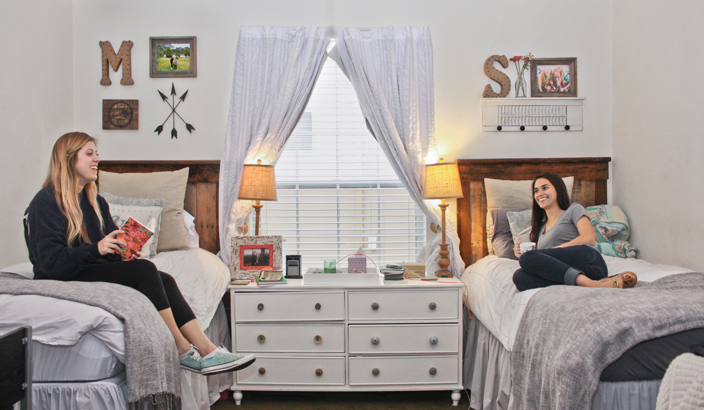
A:
{"label": "blonde woman in dark sweatshirt and leggings holding a red book", "polygon": [[[106,200],[98,195],[96,141],[70,132],[54,144],[49,176],[25,212],[25,241],[35,279],[110,282],[144,293],[176,342],[181,368],[202,374],[244,369],[254,361],[217,347],[203,333],[174,278],[149,260],[123,260]],[[201,356],[202,354],[202,356]]]}

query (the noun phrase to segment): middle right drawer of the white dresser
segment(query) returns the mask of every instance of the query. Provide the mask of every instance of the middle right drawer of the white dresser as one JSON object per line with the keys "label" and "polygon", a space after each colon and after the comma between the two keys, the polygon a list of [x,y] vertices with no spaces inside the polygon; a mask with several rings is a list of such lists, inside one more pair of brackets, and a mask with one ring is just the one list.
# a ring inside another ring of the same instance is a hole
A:
{"label": "middle right drawer of the white dresser", "polygon": [[432,325],[350,325],[350,353],[457,353],[456,323]]}

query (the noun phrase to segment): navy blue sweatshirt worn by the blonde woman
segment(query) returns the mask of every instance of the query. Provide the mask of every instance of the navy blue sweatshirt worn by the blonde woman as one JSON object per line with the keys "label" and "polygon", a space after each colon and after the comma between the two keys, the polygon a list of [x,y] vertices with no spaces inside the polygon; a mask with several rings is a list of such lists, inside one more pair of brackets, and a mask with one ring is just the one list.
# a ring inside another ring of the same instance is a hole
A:
{"label": "navy blue sweatshirt worn by the blonde woman", "polygon": [[110,216],[105,198],[98,196],[98,205],[105,229],[88,198],[80,194],[83,223],[91,243],[82,243],[80,237],[69,244],[66,238],[68,222],[58,209],[54,189],[43,188],[34,196],[25,212],[25,241],[30,251],[30,262],[34,265],[35,279],[70,280],[89,264],[119,262],[122,257],[108,253],[100,255],[98,242],[108,233],[118,229]]}

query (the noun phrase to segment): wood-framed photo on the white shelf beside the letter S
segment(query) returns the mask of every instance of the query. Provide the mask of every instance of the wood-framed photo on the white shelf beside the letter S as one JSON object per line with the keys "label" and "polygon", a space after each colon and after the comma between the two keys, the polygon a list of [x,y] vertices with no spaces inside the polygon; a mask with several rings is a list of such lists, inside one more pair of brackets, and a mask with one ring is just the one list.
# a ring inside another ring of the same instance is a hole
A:
{"label": "wood-framed photo on the white shelf beside the letter S", "polygon": [[534,58],[530,65],[530,96],[576,97],[577,58]]}

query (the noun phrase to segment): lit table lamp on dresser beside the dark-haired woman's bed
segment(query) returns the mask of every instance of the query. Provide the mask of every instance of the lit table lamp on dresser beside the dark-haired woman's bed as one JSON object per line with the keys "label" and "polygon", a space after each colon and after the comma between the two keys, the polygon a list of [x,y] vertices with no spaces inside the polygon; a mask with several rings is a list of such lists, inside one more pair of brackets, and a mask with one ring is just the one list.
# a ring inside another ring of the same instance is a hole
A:
{"label": "lit table lamp on dresser beside the dark-haired woman's bed", "polygon": [[440,158],[438,164],[425,165],[425,188],[423,190],[423,199],[439,199],[441,203],[438,205],[442,214],[442,243],[440,243],[440,258],[438,266],[440,269],[436,275],[441,278],[451,278],[452,272],[447,269],[450,266],[450,260],[447,255],[450,252],[447,250],[445,243],[445,210],[448,204],[446,199],[463,198],[462,185],[460,184],[460,169],[456,162],[445,163]]}

